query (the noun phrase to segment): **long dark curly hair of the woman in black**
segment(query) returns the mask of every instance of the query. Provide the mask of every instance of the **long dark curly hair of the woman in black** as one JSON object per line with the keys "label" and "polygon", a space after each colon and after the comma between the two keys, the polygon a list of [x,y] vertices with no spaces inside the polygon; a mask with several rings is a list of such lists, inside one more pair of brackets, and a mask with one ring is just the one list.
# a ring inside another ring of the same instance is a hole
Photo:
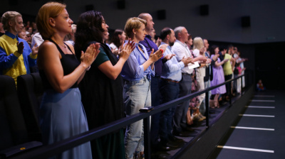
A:
{"label": "long dark curly hair of the woman in black", "polygon": [[85,50],[90,41],[103,43],[102,28],[103,16],[99,11],[86,11],[81,13],[78,18],[74,49],[78,60],[81,57],[81,50]]}

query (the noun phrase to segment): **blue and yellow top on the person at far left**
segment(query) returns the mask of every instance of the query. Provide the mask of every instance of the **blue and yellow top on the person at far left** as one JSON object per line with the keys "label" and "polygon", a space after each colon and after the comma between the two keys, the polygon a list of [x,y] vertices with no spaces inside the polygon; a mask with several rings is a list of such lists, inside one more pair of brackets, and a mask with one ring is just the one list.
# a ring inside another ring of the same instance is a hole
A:
{"label": "blue and yellow top on the person at far left", "polygon": [[[17,42],[24,43],[23,54],[18,53]],[[6,31],[0,37],[0,75],[13,77],[17,84],[17,77],[30,74],[30,68],[36,65],[36,57],[31,55],[31,48],[26,40]]]}

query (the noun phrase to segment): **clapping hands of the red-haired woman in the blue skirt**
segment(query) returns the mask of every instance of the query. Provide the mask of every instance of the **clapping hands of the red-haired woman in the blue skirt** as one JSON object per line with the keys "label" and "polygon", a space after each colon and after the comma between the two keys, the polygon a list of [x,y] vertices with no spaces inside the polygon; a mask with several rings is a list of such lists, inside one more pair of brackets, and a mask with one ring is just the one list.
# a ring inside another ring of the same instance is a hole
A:
{"label": "clapping hands of the red-haired woman in the blue skirt", "polygon": [[90,44],[84,53],[81,51],[81,62],[89,67],[100,53],[100,43]]}

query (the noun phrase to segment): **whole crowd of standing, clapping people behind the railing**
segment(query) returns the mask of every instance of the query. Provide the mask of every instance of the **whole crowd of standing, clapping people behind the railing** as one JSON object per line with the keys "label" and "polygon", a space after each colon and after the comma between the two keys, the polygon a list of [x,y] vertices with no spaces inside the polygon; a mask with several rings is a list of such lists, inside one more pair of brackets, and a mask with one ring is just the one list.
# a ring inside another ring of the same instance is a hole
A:
{"label": "whole crowd of standing, clapping people behind the railing", "polygon": [[[207,39],[193,40],[184,26],[163,28],[156,38],[154,24],[150,13],[140,13],[109,37],[102,13],[81,13],[75,25],[66,5],[58,2],[44,4],[31,25],[24,25],[16,11],[3,14],[0,75],[11,76],[15,82],[18,76],[31,72],[41,75],[44,144],[244,74],[247,59],[237,47],[209,48]],[[219,108],[244,87],[240,80],[232,83],[233,87],[230,84],[209,92],[210,108]],[[183,142],[177,136],[189,136],[192,124],[206,119],[205,110],[205,94],[201,94],[151,116],[152,151],[177,148]],[[141,120],[56,158],[143,158],[143,153]]]}

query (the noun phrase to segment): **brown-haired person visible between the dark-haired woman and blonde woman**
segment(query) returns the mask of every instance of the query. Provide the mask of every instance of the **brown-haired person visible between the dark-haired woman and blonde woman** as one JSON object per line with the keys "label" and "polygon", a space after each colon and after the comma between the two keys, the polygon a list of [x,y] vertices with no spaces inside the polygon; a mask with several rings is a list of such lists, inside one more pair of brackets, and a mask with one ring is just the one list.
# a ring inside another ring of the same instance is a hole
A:
{"label": "brown-haired person visible between the dark-haired woman and blonde woman", "polygon": [[125,31],[116,29],[110,43],[110,48],[114,55],[118,56],[119,48],[123,43],[125,43]]}

